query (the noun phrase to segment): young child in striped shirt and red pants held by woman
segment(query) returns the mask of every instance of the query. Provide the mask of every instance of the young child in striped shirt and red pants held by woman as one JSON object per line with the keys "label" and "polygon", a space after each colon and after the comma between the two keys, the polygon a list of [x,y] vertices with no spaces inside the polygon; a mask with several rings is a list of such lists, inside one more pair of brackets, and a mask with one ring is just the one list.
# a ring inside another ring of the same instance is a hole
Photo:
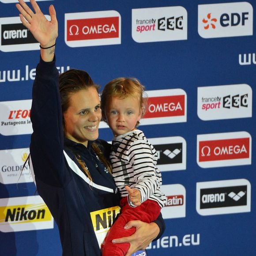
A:
{"label": "young child in striped shirt and red pants held by woman", "polygon": [[112,240],[135,232],[135,228],[124,230],[128,221],[154,221],[166,201],[160,191],[157,152],[137,129],[146,109],[144,89],[137,79],[117,78],[105,86],[101,95],[102,117],[114,135],[110,153],[113,178],[122,197],[121,214],[102,245],[103,256],[125,255],[129,243],[113,244]]}

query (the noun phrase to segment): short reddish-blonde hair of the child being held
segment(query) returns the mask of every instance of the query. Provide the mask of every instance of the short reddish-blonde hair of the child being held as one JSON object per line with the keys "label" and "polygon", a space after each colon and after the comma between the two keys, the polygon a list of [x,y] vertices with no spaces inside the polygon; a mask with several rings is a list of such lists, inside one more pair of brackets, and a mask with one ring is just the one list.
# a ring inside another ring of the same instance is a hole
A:
{"label": "short reddish-blonde hair of the child being held", "polygon": [[[101,107],[102,107],[102,118],[106,122],[105,108],[108,105],[109,99],[117,97],[124,99],[127,97],[138,98],[139,107],[141,111],[141,117],[143,117],[147,107],[147,94],[145,93],[145,87],[139,83],[136,78],[119,77],[113,79],[107,83],[101,94]],[[139,126],[139,121],[136,127]]]}

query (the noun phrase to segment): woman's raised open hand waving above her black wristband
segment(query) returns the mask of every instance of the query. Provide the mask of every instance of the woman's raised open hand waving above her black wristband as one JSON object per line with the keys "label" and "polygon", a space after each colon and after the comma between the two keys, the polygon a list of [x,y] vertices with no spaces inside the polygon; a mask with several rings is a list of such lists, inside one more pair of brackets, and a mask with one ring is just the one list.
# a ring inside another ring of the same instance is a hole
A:
{"label": "woman's raised open hand waving above her black wristband", "polygon": [[34,11],[23,0],[18,1],[19,4],[16,4],[16,7],[20,12],[19,17],[23,25],[30,30],[42,47],[54,45],[58,36],[58,22],[53,5],[49,6],[51,21],[48,21],[35,0],[30,0]]}

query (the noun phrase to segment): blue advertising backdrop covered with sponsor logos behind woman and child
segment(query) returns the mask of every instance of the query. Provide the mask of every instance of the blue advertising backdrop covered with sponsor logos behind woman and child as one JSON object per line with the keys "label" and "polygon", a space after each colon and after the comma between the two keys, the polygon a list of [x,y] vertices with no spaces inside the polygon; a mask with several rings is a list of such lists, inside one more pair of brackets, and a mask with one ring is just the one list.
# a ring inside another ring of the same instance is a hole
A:
{"label": "blue advertising backdrop covered with sponsor logos behind woman and child", "polygon": [[[0,0],[0,255],[61,255],[30,170],[31,88],[39,44]],[[27,2],[27,1],[26,1]],[[158,151],[163,236],[149,256],[255,255],[254,0],[38,0],[59,21],[56,63],[103,88],[136,77],[149,97],[139,128]],[[112,140],[107,124],[100,138]],[[44,156],[42,155],[42,158]]]}

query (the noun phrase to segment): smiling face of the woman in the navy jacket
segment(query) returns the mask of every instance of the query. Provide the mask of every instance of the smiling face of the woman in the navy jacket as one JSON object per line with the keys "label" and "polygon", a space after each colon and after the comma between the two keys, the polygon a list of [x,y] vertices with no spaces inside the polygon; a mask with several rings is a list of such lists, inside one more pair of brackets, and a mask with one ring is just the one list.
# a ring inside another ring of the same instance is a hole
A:
{"label": "smiling face of the woman in the navy jacket", "polygon": [[96,88],[89,87],[71,94],[69,107],[64,113],[65,136],[87,147],[88,140],[98,139],[102,119],[100,99]]}

